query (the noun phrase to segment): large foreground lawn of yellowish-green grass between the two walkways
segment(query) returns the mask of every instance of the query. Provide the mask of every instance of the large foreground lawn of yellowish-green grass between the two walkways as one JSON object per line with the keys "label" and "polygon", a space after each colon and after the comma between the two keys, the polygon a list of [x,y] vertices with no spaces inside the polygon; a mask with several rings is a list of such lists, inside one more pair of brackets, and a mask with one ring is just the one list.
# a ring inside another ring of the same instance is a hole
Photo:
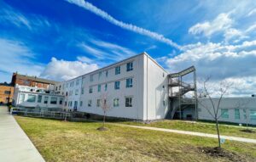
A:
{"label": "large foreground lawn of yellowish-green grass between the two walkways", "polygon": [[[46,161],[231,161],[214,158],[199,147],[215,147],[217,139],[108,125],[15,116]],[[256,145],[227,141],[223,147],[256,161]]]}

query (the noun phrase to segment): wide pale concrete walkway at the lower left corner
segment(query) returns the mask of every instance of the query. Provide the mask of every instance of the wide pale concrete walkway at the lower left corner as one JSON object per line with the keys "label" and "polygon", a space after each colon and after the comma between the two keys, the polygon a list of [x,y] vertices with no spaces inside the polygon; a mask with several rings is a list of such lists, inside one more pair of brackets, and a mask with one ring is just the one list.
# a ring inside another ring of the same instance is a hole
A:
{"label": "wide pale concrete walkway at the lower left corner", "polygon": [[7,108],[0,106],[0,161],[44,162]]}

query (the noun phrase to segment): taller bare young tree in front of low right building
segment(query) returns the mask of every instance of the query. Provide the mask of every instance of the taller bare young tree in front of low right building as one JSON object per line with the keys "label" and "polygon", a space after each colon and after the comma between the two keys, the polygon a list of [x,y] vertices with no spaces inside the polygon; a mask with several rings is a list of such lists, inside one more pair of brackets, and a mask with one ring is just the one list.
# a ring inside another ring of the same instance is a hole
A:
{"label": "taller bare young tree in front of low right building", "polygon": [[[220,137],[219,137],[219,129],[218,129],[218,119],[220,116],[223,114],[219,115],[219,108],[220,108],[220,103],[224,97],[224,95],[228,92],[230,87],[232,86],[232,83],[226,82],[226,81],[221,81],[219,83],[219,88],[218,92],[215,92],[215,95],[218,95],[218,102],[215,104],[212,99],[212,92],[210,92],[210,88],[207,86],[207,83],[210,81],[210,77],[207,77],[205,81],[203,81],[203,87],[201,91],[199,91],[199,97],[201,98],[208,98],[210,100],[210,105],[205,105],[199,100],[199,104],[205,109],[207,109],[207,112],[212,116],[212,119],[215,121],[215,126],[216,126],[216,131],[218,134],[218,148],[221,148],[221,142],[220,142]],[[212,109],[212,111],[211,111]]]}

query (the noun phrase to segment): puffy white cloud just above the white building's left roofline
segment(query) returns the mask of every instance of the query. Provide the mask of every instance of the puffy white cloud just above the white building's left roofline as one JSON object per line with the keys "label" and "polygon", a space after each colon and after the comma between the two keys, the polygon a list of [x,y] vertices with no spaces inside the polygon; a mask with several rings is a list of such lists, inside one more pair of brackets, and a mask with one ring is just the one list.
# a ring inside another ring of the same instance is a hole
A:
{"label": "puffy white cloud just above the white building's left roofline", "polygon": [[81,61],[66,61],[63,59],[58,60],[52,58],[40,76],[55,81],[67,81],[97,69],[97,64],[87,64]]}

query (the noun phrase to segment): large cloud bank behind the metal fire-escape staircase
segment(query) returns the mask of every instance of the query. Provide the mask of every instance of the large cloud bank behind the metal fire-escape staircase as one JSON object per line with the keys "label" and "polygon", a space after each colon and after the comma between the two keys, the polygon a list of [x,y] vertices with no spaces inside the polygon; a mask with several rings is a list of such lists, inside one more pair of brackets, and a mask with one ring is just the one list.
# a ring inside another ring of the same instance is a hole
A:
{"label": "large cloud bank behind the metal fire-escape staircase", "polygon": [[230,96],[248,95],[256,92],[256,42],[239,45],[191,44],[174,58],[161,58],[172,72],[195,65],[198,78],[212,75],[212,81],[232,81]]}

